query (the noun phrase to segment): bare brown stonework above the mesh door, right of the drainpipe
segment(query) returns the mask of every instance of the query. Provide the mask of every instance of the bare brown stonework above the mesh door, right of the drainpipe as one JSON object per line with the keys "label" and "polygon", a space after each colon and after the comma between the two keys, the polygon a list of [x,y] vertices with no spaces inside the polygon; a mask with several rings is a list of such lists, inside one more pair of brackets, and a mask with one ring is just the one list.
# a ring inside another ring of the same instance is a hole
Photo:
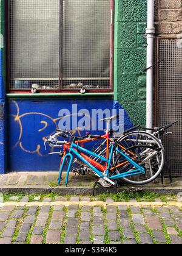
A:
{"label": "bare brown stonework above the mesh door, right of the drainpipe", "polygon": [[182,33],[182,1],[155,0],[155,27],[160,35]]}

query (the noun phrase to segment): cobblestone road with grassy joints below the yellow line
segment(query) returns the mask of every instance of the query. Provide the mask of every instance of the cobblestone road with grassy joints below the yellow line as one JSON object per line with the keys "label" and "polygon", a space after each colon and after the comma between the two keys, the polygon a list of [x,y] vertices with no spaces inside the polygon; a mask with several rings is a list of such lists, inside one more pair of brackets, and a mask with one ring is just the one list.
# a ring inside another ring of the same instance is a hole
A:
{"label": "cobblestone road with grassy joints below the yellow line", "polygon": [[[21,201],[27,202],[26,198]],[[56,198],[52,206],[49,201],[45,197],[44,205],[18,206],[14,202],[1,207],[0,244],[182,243],[179,207],[114,205],[111,199],[104,207],[98,201],[89,205],[89,197],[83,198],[85,205],[76,204],[79,197],[70,197],[70,205],[64,204],[64,198]]]}

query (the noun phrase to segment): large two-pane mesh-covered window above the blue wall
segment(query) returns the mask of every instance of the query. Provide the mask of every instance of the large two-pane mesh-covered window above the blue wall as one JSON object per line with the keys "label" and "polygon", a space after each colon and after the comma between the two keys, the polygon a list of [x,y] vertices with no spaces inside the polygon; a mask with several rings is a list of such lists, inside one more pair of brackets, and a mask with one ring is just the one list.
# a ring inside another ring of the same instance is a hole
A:
{"label": "large two-pane mesh-covered window above the blue wall", "polygon": [[10,91],[112,90],[112,0],[9,0]]}

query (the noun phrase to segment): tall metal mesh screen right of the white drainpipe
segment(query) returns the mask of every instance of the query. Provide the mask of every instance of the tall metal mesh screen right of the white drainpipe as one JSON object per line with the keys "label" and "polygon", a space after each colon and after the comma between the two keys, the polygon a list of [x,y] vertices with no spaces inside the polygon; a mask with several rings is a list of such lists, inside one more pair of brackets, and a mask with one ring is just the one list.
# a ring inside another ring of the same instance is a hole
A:
{"label": "tall metal mesh screen right of the white drainpipe", "polygon": [[[160,125],[179,123],[170,129],[173,135],[163,138],[166,157],[173,176],[182,176],[182,41],[160,39],[159,120]],[[166,171],[166,169],[165,169]],[[167,173],[167,172],[166,172]]]}

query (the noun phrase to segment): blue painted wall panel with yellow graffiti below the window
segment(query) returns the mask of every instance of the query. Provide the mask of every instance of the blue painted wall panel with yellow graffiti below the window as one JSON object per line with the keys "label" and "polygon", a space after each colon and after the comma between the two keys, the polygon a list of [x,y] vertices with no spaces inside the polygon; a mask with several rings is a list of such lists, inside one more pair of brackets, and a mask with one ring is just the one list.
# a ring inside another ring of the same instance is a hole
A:
{"label": "blue painted wall panel with yellow graffiti below the window", "polygon": [[[93,108],[122,109],[120,104],[108,99],[9,101],[8,171],[58,171],[60,159],[58,155],[49,155],[52,150],[49,147],[45,150],[44,138],[59,126],[62,119],[60,110],[64,108],[72,113],[73,104],[77,105],[78,111],[82,108],[90,112]],[[132,122],[124,111],[124,129],[131,126]],[[76,133],[84,135],[86,131],[78,127]]]}

